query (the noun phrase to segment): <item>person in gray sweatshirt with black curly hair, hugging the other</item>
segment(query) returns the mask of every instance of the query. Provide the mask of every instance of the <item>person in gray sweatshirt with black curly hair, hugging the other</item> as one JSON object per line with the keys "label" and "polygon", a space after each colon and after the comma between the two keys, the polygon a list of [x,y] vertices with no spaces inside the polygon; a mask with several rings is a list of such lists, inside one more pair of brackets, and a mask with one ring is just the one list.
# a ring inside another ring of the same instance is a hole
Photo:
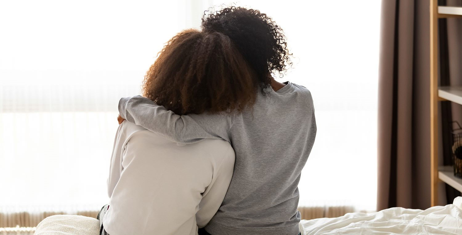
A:
{"label": "person in gray sweatshirt with black curly hair, hugging the other", "polygon": [[316,119],[307,88],[271,76],[282,76],[292,65],[286,37],[266,14],[234,6],[204,15],[201,28],[230,37],[254,70],[254,105],[223,116],[181,115],[135,96],[119,101],[120,118],[178,143],[231,142],[236,161],[228,192],[199,234],[298,235],[298,182],[315,141]]}

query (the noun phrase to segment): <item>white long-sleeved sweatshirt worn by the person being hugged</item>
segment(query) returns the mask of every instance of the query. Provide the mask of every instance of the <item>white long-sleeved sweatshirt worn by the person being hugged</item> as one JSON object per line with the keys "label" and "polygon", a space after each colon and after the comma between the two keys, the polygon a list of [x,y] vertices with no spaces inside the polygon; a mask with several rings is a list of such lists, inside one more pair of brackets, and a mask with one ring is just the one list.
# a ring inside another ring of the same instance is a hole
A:
{"label": "white long-sleeved sweatshirt worn by the person being hugged", "polygon": [[129,122],[114,152],[103,220],[110,235],[195,235],[218,210],[234,167],[224,140],[177,145]]}

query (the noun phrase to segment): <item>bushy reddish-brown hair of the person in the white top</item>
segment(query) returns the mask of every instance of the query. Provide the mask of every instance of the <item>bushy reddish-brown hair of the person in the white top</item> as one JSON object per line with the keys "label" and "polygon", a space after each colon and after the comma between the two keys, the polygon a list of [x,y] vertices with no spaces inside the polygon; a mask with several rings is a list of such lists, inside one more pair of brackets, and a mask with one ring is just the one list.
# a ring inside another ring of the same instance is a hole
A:
{"label": "bushy reddish-brown hair of the person in the white top", "polygon": [[143,96],[179,115],[242,111],[254,103],[258,86],[229,37],[190,29],[159,52],[145,75]]}

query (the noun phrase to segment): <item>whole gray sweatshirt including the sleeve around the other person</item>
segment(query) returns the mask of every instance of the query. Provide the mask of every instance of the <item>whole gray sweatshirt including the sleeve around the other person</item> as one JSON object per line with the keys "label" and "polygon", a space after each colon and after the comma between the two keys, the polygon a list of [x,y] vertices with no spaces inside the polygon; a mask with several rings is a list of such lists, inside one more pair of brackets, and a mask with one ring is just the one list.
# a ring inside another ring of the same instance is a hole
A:
{"label": "whole gray sweatshirt including the sleeve around the other person", "polygon": [[[316,136],[311,93],[286,82],[241,113],[176,115],[152,100],[122,98],[122,118],[178,143],[231,142],[234,173],[206,230],[212,235],[298,235],[298,181]],[[173,157],[173,156],[172,156]]]}

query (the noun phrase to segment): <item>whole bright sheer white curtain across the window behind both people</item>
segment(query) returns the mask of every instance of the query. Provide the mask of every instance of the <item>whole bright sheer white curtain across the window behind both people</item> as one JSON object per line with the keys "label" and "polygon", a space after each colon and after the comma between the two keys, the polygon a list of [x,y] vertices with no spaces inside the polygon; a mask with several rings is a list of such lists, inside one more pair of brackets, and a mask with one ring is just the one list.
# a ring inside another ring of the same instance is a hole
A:
{"label": "whole bright sheer white curtain across the window behind both people", "polygon": [[[375,209],[379,2],[238,3],[285,30],[296,63],[282,80],[313,94],[318,134],[303,206]],[[140,93],[163,43],[222,3],[2,1],[0,209],[107,203],[118,99]]]}

